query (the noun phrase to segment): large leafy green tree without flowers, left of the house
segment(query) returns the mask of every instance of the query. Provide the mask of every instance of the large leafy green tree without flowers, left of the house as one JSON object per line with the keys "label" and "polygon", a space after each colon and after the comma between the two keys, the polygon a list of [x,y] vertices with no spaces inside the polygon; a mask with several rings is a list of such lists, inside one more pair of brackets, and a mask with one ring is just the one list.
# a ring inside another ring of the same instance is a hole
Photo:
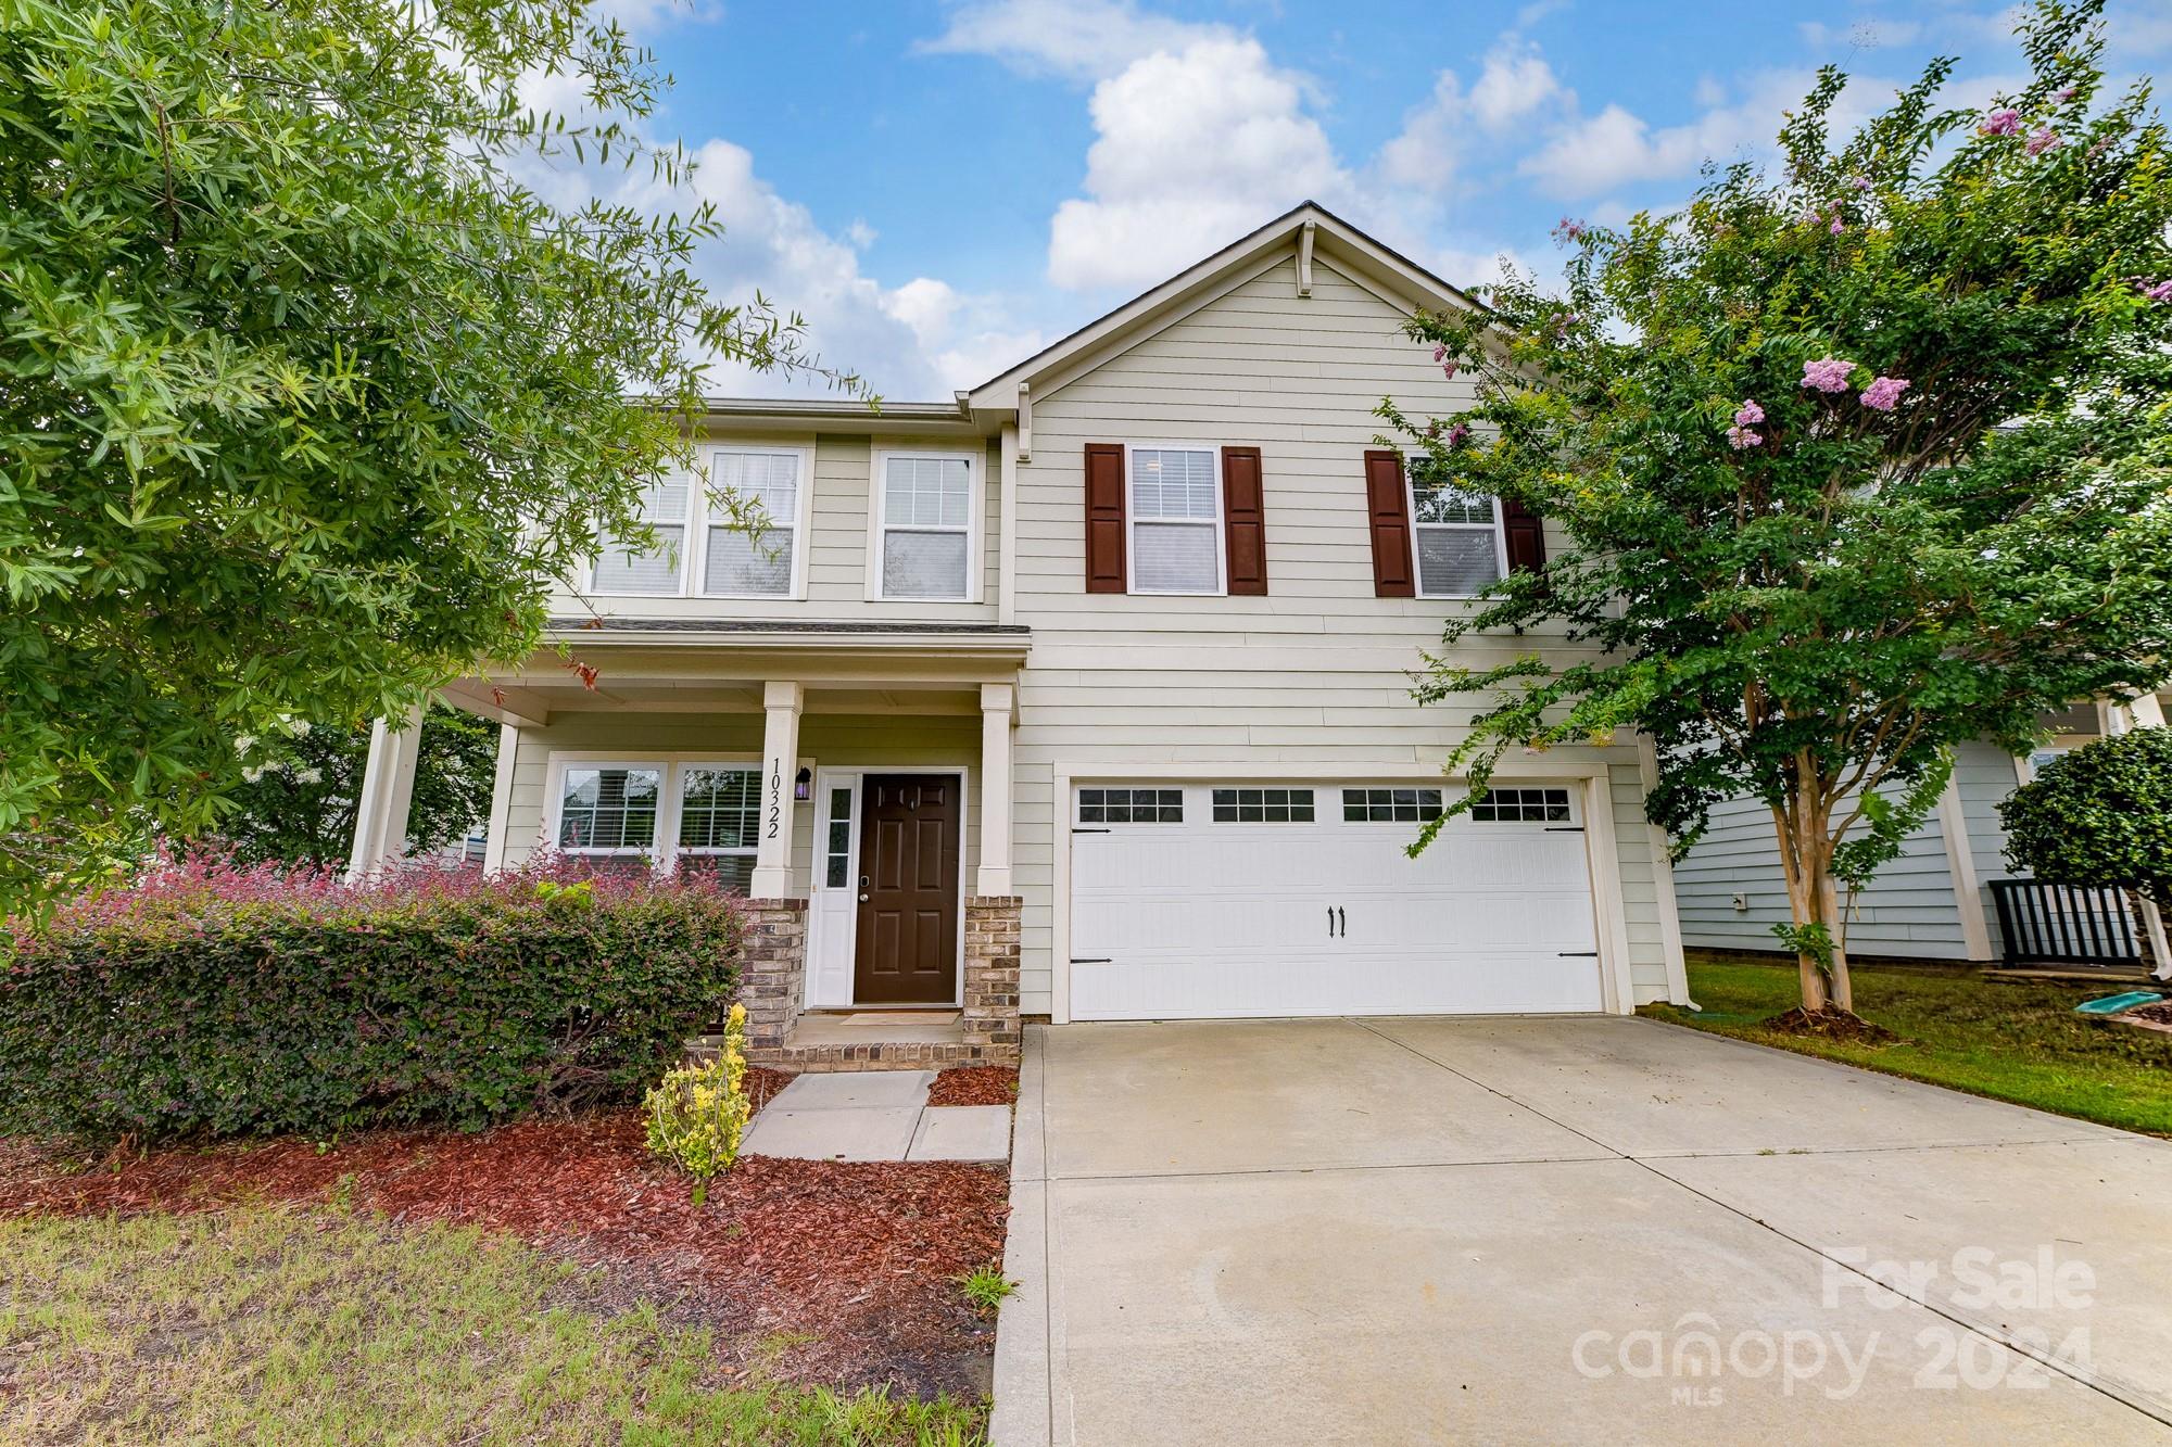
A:
{"label": "large leafy green tree without flowers, left of the house", "polygon": [[521,183],[684,178],[591,9],[0,0],[0,910],[215,832],[237,737],[530,652],[706,365],[821,369],[710,211]]}

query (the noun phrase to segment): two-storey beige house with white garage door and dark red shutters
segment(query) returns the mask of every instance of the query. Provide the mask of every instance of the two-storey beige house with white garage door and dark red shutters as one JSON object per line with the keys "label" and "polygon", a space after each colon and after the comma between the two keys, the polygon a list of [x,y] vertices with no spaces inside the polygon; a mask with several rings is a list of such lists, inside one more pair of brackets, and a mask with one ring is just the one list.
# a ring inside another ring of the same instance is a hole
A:
{"label": "two-storey beige house with white garage door and dark red shutters", "polygon": [[[504,724],[489,863],[743,886],[756,1047],[815,1067],[1001,1058],[1021,1010],[1683,999],[1636,741],[1512,756],[1405,856],[1468,719],[1412,700],[1420,652],[1544,558],[1536,519],[1414,489],[1377,441],[1384,393],[1468,406],[1399,330],[1468,304],[1308,204],[949,402],[715,402],[702,461],[767,545],[671,478],[669,548],[560,600],[593,689],[558,654],[447,689]],[[801,1019],[871,1008],[891,1036]]]}

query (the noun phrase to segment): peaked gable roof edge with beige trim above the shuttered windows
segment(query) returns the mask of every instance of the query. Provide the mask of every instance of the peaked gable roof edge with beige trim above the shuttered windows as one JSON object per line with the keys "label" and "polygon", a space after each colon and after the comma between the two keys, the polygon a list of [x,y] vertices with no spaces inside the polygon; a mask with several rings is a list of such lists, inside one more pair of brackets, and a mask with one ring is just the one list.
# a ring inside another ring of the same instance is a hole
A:
{"label": "peaked gable roof edge with beige trim above the shuttered windows", "polygon": [[1162,330],[1232,285],[1249,280],[1253,274],[1266,269],[1266,265],[1279,263],[1284,252],[1297,250],[1303,254],[1308,230],[1312,256],[1334,261],[1338,272],[1349,274],[1351,280],[1377,291],[1403,311],[1416,311],[1418,306],[1434,311],[1479,309],[1479,302],[1462,289],[1451,287],[1416,261],[1375,241],[1318,202],[1308,200],[1249,237],[1240,237],[1205,261],[1171,276],[1160,287],[1132,298],[1116,311],[1034,352],[1008,372],[988,378],[971,391],[958,393],[958,400],[973,413],[1014,411],[1021,382],[1034,393],[1043,393],[1051,378],[1069,380],[1069,376],[1084,372],[1101,356]]}

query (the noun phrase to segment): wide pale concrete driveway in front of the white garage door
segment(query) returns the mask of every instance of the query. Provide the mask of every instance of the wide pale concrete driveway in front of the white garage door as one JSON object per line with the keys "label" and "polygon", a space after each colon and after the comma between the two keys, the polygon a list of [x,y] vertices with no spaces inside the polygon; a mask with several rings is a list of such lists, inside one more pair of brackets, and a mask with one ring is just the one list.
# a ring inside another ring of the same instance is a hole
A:
{"label": "wide pale concrete driveway in front of the white garage door", "polygon": [[2172,1143],[1657,1021],[1036,1028],[1012,1182],[999,1445],[2172,1434]]}

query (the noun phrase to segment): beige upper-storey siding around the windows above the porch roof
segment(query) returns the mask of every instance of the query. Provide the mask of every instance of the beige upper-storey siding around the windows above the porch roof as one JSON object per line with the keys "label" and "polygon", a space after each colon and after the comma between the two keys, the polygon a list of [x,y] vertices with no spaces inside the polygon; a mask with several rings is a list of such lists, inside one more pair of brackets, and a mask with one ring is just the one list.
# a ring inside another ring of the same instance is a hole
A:
{"label": "beige upper-storey siding around the windows above the porch roof", "polygon": [[[712,441],[749,441],[715,435]],[[799,439],[806,441],[804,437]],[[873,528],[873,465],[882,450],[967,452],[975,458],[982,489],[982,530],[975,539],[982,571],[980,602],[875,600],[867,597],[869,530]],[[719,617],[773,619],[875,619],[993,624],[997,617],[997,537],[1001,537],[1001,456],[993,441],[904,441],[821,435],[815,439],[815,491],[808,502],[808,595],[793,597],[593,597],[560,593],[558,613],[604,617]],[[699,582],[699,580],[695,580]]]}

